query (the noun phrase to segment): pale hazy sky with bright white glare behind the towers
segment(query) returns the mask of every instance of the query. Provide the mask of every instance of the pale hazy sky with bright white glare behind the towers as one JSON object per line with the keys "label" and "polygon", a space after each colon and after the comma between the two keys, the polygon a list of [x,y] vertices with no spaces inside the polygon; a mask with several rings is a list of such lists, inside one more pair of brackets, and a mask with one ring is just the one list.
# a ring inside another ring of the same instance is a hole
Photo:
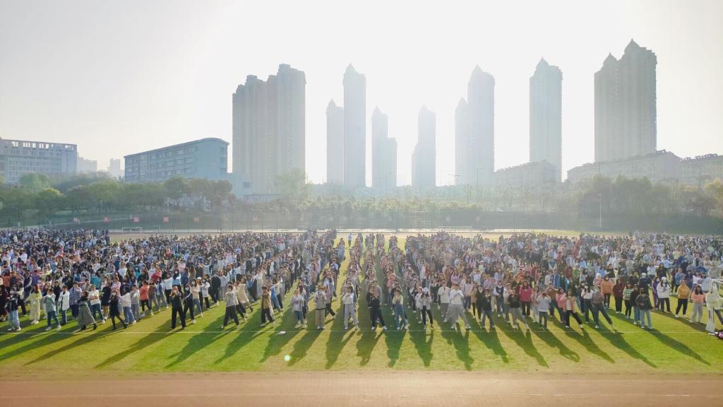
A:
{"label": "pale hazy sky with bright white glare behind the towers", "polygon": [[[278,64],[306,72],[306,170],[326,174],[330,99],[351,63],[389,116],[398,184],[417,115],[437,114],[437,185],[453,184],[454,110],[476,64],[495,76],[495,168],[529,159],[529,77],[562,70],[562,169],[594,158],[594,72],[631,38],[657,65],[657,147],[723,154],[723,1],[0,1],[0,138],[76,143],[98,160],[205,137],[231,143],[231,95]],[[231,168],[231,157],[229,157]]]}

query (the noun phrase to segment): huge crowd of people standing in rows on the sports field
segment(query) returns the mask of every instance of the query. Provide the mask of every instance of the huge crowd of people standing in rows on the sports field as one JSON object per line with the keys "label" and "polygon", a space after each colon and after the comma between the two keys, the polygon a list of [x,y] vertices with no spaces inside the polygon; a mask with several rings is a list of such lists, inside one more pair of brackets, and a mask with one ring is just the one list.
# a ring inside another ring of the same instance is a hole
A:
{"label": "huge crowd of people standing in rows on the sports field", "polygon": [[414,319],[424,330],[435,319],[453,330],[460,319],[468,330],[470,321],[546,330],[551,319],[599,328],[613,325],[613,313],[652,329],[653,312],[705,320],[709,332],[716,319],[723,324],[723,238],[715,237],[437,232],[408,236],[401,247],[395,235],[345,239],[335,230],[112,242],[106,230],[27,229],[0,232],[0,245],[0,321],[10,331],[41,321],[61,330],[73,320],[78,330],[96,329],[108,319],[125,329],[169,308],[171,330],[184,329],[221,305],[221,329],[249,322],[254,306],[263,327],[276,324],[285,303],[296,328],[309,329],[313,318],[317,330],[339,317],[335,309],[345,330],[359,329],[362,307],[371,330],[406,330]]}

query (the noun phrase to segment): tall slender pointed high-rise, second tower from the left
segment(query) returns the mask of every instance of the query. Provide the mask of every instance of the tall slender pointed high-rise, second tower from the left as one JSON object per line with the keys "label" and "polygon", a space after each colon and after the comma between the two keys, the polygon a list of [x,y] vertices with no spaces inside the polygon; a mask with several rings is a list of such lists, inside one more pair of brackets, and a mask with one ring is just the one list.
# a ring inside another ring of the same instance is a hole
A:
{"label": "tall slender pointed high-rise, second tower from the left", "polygon": [[367,185],[367,78],[349,64],[344,72],[344,185]]}

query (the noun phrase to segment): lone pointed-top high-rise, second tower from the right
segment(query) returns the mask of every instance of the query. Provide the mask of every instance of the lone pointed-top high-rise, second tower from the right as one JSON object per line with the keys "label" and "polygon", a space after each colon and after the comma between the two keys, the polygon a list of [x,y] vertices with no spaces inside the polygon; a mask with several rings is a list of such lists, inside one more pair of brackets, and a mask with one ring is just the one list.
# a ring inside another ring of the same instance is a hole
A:
{"label": "lone pointed-top high-rise, second tower from the right", "polygon": [[562,71],[540,59],[530,77],[530,162],[547,161],[562,181]]}

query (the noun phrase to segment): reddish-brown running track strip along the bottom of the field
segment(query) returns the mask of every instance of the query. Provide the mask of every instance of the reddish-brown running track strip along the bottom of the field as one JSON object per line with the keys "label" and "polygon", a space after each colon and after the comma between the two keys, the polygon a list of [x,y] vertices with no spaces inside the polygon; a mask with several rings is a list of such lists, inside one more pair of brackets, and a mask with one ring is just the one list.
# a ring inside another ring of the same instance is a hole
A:
{"label": "reddish-brown running track strip along the bottom of the field", "polygon": [[723,374],[189,373],[5,377],[0,406],[723,406]]}

